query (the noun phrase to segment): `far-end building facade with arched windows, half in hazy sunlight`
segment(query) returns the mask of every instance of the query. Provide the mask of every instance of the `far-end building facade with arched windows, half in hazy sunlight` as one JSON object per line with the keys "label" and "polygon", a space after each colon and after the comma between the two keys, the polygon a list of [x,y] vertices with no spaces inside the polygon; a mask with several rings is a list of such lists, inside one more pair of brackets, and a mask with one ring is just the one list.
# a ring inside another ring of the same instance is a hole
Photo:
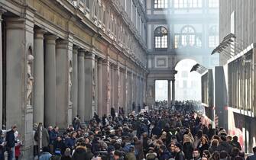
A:
{"label": "far-end building facade with arched windows, half in hazy sunlight", "polygon": [[181,60],[206,68],[219,64],[219,56],[210,55],[219,43],[219,1],[147,0],[146,5],[147,104],[153,105],[156,80],[168,80],[168,101],[175,100],[175,68]]}

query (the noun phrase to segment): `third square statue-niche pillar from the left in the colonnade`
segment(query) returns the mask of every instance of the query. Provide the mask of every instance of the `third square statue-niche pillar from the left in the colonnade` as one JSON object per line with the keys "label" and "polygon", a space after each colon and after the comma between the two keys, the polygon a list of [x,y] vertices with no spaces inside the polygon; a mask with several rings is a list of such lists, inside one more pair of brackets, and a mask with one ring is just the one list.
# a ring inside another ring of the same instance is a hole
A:
{"label": "third square statue-niche pillar from the left in the colonnade", "polygon": [[95,55],[93,53],[86,53],[85,56],[85,82],[86,82],[86,113],[85,119],[90,120],[95,112]]}

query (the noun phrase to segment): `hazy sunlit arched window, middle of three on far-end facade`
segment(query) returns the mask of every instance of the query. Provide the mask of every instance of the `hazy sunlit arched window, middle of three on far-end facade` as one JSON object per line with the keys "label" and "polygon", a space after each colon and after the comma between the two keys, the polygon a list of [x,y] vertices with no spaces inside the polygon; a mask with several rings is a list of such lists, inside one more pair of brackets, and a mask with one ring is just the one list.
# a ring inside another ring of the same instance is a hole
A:
{"label": "hazy sunlit arched window, middle of three on far-end facade", "polygon": [[196,44],[196,31],[191,26],[185,26],[181,29],[181,45],[182,46],[195,46]]}

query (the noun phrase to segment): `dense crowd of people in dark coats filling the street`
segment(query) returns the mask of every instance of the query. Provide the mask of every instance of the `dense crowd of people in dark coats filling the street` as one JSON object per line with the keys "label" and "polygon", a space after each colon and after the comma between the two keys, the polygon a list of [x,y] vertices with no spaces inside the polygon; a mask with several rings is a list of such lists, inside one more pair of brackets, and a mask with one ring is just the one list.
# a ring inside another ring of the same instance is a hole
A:
{"label": "dense crowd of people in dark coats filling the street", "polygon": [[[162,103],[164,104],[164,103]],[[73,120],[64,132],[58,126],[34,124],[34,157],[39,160],[243,160],[237,136],[201,123],[195,102],[161,105],[144,113],[94,115],[88,124]],[[122,108],[120,108],[122,110]],[[15,129],[12,131],[15,132]],[[13,144],[11,145],[13,147]],[[40,149],[41,148],[41,149]],[[247,160],[256,159],[254,155]],[[11,159],[11,158],[10,158]]]}

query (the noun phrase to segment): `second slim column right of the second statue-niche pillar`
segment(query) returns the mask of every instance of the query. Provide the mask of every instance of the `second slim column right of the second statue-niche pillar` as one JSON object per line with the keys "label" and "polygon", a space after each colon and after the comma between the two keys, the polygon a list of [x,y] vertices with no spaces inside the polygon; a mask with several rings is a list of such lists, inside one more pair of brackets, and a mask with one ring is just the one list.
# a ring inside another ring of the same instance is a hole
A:
{"label": "second slim column right of the second statue-niche pillar", "polygon": [[77,112],[81,117],[81,121],[85,121],[85,63],[84,56],[86,50],[78,50],[78,103],[77,103]]}

